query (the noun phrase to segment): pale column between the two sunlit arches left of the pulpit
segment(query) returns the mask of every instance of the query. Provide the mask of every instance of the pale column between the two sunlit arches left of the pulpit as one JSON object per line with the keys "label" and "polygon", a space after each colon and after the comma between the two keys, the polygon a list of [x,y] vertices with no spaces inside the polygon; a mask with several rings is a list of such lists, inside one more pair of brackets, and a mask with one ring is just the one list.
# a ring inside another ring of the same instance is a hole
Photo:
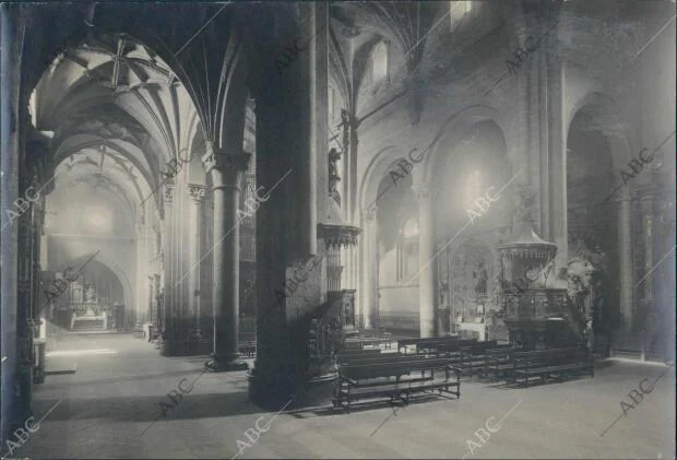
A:
{"label": "pale column between the two sunlit arches left of the pulpit", "polygon": [[429,184],[415,187],[418,193],[418,303],[420,337],[437,337],[437,237],[433,192]]}

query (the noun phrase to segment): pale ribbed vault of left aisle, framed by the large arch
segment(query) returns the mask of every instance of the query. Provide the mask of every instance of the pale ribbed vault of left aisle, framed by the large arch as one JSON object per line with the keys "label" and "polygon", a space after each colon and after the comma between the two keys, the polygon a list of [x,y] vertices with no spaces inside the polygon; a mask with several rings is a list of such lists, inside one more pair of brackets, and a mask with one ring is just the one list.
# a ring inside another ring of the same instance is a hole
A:
{"label": "pale ribbed vault of left aisle, framed by the large arch", "polygon": [[62,51],[37,84],[32,111],[38,130],[54,132],[57,185],[105,187],[133,212],[167,162],[190,152],[199,128],[169,67],[121,33],[91,33]]}

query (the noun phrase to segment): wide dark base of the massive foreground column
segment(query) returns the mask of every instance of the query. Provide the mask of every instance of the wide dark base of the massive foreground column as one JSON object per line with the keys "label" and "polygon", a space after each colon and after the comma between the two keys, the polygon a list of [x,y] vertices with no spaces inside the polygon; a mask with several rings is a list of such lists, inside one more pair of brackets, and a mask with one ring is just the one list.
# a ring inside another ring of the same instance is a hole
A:
{"label": "wide dark base of the massive foreground column", "polygon": [[257,405],[271,411],[282,408],[298,409],[332,403],[336,373],[296,378],[284,370],[247,373],[249,399]]}

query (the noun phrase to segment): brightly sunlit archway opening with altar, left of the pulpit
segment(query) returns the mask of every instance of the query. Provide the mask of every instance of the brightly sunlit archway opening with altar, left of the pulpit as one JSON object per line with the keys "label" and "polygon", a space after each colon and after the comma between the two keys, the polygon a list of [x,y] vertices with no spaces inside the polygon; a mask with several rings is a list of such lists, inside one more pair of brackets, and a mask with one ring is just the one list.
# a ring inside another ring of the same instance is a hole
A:
{"label": "brightly sunlit archway opening with altar, left of the pulpit", "polygon": [[507,340],[492,250],[512,226],[512,200],[503,197],[510,191],[499,193],[512,177],[506,141],[495,121],[484,120],[448,150],[436,178],[439,331],[485,338],[487,325]]}

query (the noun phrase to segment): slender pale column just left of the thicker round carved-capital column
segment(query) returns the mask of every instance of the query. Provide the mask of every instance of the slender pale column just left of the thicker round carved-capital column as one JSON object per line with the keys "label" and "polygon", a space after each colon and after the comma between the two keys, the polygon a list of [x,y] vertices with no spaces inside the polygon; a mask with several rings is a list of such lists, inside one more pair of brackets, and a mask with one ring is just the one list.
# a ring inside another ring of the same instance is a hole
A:
{"label": "slender pale column just left of the thicker round carved-capital column", "polygon": [[188,300],[190,312],[193,317],[195,329],[193,337],[200,340],[202,331],[200,330],[200,262],[202,253],[200,252],[200,232],[202,224],[202,203],[204,201],[205,187],[201,185],[190,184],[188,186],[190,198],[189,220],[189,272],[188,272]]}

